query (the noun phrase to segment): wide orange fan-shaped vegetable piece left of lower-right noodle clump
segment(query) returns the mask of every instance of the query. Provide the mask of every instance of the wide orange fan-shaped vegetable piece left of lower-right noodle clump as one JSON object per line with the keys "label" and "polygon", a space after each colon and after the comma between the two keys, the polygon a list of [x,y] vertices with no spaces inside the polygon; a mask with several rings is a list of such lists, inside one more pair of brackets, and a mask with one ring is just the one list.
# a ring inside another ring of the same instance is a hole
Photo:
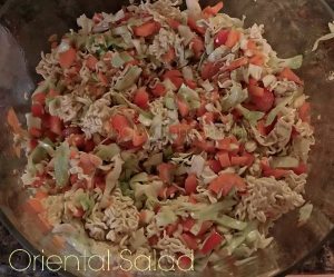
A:
{"label": "wide orange fan-shaped vegetable piece left of lower-right noodle clump", "polygon": [[232,188],[236,188],[238,191],[245,190],[246,184],[244,179],[236,174],[222,174],[210,181],[208,188],[215,194],[219,194],[222,191],[223,196],[226,196]]}

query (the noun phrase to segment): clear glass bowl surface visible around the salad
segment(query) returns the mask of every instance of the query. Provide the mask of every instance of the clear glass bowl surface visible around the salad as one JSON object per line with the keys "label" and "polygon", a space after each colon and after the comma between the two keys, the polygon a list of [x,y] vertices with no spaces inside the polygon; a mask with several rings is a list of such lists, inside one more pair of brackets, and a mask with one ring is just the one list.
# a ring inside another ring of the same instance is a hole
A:
{"label": "clear glass bowl surface visible around the salad", "polygon": [[[216,1],[202,1],[203,6]],[[313,125],[316,145],[312,150],[311,172],[306,186],[307,199],[314,204],[311,219],[296,226],[297,212],[284,216],[272,230],[275,237],[268,249],[258,251],[256,259],[235,266],[233,258],[222,259],[224,273],[194,274],[194,276],[273,276],[282,274],[333,236],[334,222],[334,70],[333,41],[311,52],[314,41],[328,32],[333,20],[331,9],[314,0],[225,0],[224,11],[234,17],[246,16],[246,26],[264,23],[266,38],[281,57],[303,53],[305,62],[299,75],[306,92],[312,97]],[[0,218],[31,253],[63,255],[57,238],[46,231],[38,217],[31,217],[22,207],[27,198],[20,184],[24,158],[18,159],[12,149],[12,137],[6,125],[6,112],[13,107],[23,122],[29,109],[27,96],[39,80],[35,67],[40,51],[48,51],[48,38],[76,28],[76,18],[95,11],[117,11],[126,1],[90,0],[22,0],[8,1],[0,8]],[[75,250],[67,246],[66,254]],[[69,268],[67,268],[69,270]],[[124,276],[122,273],[73,271],[87,276]],[[148,276],[154,276],[149,273]],[[159,276],[159,275],[158,275]]]}

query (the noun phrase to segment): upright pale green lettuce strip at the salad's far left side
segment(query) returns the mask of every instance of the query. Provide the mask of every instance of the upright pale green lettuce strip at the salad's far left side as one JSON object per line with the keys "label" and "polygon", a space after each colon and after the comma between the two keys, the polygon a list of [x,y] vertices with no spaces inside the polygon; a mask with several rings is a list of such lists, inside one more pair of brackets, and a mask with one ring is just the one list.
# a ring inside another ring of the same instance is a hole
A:
{"label": "upright pale green lettuce strip at the salad's far left side", "polygon": [[62,142],[55,152],[55,178],[59,187],[67,185],[69,180],[70,148],[67,141]]}

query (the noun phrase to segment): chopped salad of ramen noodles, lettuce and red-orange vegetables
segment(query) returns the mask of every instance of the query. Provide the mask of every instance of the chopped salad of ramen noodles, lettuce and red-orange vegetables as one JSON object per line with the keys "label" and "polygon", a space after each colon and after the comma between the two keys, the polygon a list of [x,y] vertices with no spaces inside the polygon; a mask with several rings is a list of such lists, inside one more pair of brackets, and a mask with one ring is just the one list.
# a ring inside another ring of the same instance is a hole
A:
{"label": "chopped salad of ramen noodles, lettuce and red-orange vegetables", "polygon": [[266,248],[305,204],[311,106],[302,56],[278,58],[264,26],[223,2],[186,3],[84,14],[51,36],[14,139],[28,204],[53,231],[218,269]]}

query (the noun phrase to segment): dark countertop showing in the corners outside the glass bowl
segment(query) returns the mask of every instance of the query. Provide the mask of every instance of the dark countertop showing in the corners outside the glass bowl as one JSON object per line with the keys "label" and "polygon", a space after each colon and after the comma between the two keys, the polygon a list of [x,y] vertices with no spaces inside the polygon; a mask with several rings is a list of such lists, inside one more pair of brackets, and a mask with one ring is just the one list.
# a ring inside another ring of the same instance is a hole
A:
{"label": "dark countertop showing in the corners outside the glass bowl", "polygon": [[[48,1],[48,0],[46,0]],[[112,1],[112,0],[109,0]],[[315,0],[317,1],[317,0]],[[6,0],[0,0],[0,8]],[[330,6],[334,9],[334,0],[327,0]],[[0,277],[61,277],[59,274],[31,269],[24,273],[17,273],[12,270],[8,264],[10,254],[20,249],[22,246],[12,237],[8,230],[0,224]],[[19,268],[20,265],[27,265],[27,257],[24,255],[16,255],[13,264]],[[334,237],[327,241],[315,255],[306,259],[299,265],[294,274],[334,274]]]}

